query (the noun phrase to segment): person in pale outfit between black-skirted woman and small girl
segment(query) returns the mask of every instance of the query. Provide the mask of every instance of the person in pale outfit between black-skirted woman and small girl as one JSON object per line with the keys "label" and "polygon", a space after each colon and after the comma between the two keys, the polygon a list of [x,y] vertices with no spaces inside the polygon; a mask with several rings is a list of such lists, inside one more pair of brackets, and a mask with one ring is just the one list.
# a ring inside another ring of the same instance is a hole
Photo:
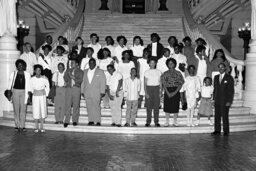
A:
{"label": "person in pale outfit between black-skirted woman and small girl", "polygon": [[187,126],[194,126],[193,116],[197,104],[197,98],[201,91],[200,80],[198,76],[195,76],[196,67],[194,65],[188,66],[189,76],[185,78],[184,91],[187,99]]}

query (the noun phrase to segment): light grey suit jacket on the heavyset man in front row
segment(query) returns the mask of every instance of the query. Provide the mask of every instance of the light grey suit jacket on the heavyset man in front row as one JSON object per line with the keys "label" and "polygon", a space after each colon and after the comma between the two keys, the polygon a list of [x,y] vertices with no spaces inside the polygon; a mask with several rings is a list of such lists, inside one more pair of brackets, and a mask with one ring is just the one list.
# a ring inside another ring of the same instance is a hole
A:
{"label": "light grey suit jacket on the heavyset man in front row", "polygon": [[85,98],[100,99],[101,94],[105,94],[106,91],[106,76],[104,71],[96,68],[92,81],[89,83],[87,76],[88,70],[84,70],[81,92],[84,93]]}

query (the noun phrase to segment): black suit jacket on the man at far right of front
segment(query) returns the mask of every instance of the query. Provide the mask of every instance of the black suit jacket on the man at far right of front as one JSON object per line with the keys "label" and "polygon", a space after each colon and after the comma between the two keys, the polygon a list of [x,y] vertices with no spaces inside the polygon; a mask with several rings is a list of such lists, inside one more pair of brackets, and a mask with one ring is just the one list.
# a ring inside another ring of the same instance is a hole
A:
{"label": "black suit jacket on the man at far right of front", "polygon": [[220,75],[214,77],[213,100],[217,105],[232,103],[234,98],[234,79],[231,75],[225,74],[220,83]]}

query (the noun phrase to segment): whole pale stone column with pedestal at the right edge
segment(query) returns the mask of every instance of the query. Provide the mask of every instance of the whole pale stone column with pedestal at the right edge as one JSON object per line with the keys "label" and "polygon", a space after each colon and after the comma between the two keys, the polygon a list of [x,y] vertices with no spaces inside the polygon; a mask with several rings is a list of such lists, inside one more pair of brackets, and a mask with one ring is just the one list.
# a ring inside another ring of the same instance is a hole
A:
{"label": "whole pale stone column with pedestal at the right edge", "polygon": [[246,55],[246,75],[244,106],[251,107],[251,113],[256,114],[256,0],[251,0],[251,43],[250,51]]}

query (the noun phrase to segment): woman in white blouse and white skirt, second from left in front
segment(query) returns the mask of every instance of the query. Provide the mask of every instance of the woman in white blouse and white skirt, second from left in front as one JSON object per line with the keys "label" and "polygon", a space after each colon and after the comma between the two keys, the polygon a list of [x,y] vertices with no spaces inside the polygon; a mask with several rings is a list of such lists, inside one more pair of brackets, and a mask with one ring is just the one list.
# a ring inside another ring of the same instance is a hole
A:
{"label": "woman in white blouse and white skirt, second from left in front", "polygon": [[45,132],[43,124],[47,117],[46,96],[49,94],[49,81],[42,76],[43,67],[34,65],[35,76],[31,78],[31,90],[33,92],[33,118],[35,119],[35,133],[39,132],[38,122],[40,120],[40,130]]}

